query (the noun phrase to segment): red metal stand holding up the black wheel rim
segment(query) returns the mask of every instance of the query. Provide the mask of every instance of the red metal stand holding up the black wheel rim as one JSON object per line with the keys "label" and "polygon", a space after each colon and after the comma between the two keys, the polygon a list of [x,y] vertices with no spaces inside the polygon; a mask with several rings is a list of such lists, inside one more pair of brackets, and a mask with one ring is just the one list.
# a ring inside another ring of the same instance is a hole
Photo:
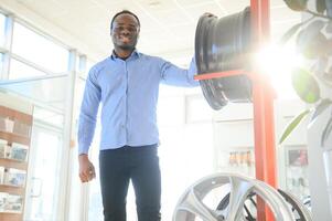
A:
{"label": "red metal stand holding up the black wheel rim", "polygon": [[[250,0],[250,11],[254,50],[258,51],[269,40],[269,0]],[[248,73],[244,70],[201,74],[194,78],[210,80],[239,74],[248,75],[253,82],[256,178],[276,188],[275,95],[269,80],[264,73]],[[257,204],[257,220],[275,220],[270,210],[260,199]]]}

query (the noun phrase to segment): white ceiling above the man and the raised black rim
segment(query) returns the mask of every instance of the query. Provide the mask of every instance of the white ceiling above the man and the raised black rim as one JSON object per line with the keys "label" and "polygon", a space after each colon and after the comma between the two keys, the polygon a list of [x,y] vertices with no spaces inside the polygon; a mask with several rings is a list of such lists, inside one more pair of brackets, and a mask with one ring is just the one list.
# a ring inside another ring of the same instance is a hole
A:
{"label": "white ceiling above the man and the raised black rim", "polygon": [[[52,23],[81,45],[85,45],[96,60],[107,56],[113,48],[109,38],[109,21],[113,15],[128,9],[135,12],[141,22],[138,50],[160,55],[181,65],[188,63],[193,55],[196,23],[204,12],[225,17],[242,11],[249,2],[249,0],[0,0],[0,7],[12,4],[11,9],[24,8],[21,11],[38,14],[35,18]],[[286,8],[283,0],[271,0],[270,6],[272,36],[279,36],[288,27],[299,21],[300,15]],[[30,22],[38,22],[35,19],[28,19]]]}

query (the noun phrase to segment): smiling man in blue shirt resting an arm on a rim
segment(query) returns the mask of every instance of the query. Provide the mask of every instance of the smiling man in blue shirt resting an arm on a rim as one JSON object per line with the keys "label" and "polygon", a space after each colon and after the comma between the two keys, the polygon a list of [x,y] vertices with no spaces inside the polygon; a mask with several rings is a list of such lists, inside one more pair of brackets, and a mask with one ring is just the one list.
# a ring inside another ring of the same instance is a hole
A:
{"label": "smiling man in blue shirt resting an arm on a rim", "polygon": [[161,181],[157,147],[159,83],[196,86],[194,61],[189,70],[136,50],[140,31],[137,15],[120,11],[110,23],[113,54],[97,63],[86,80],[78,126],[79,178],[95,178],[88,159],[101,103],[99,152],[105,221],[126,220],[129,180],[136,193],[139,221],[160,220]]}

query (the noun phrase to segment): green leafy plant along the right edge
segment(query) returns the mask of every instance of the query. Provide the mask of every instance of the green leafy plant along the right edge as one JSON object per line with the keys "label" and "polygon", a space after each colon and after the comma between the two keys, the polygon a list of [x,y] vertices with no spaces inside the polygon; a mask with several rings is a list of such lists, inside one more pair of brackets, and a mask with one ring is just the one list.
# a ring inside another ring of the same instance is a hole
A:
{"label": "green leafy plant along the right edge", "polygon": [[[292,133],[292,130],[304,119],[311,115],[310,127],[318,116],[320,116],[328,107],[332,105],[329,97],[323,97],[321,87],[332,88],[332,1],[331,0],[313,0],[314,10],[308,8],[308,0],[283,0],[292,10],[303,12],[310,17],[301,23],[289,29],[281,39],[285,44],[291,38],[296,38],[296,44],[299,52],[309,60],[311,67],[297,67],[292,71],[292,86],[299,97],[312,104],[308,108],[296,116],[285,129],[279,144]],[[331,95],[330,95],[331,97]],[[332,133],[332,113],[326,120],[326,125],[321,136],[321,146],[325,146],[328,137]]]}

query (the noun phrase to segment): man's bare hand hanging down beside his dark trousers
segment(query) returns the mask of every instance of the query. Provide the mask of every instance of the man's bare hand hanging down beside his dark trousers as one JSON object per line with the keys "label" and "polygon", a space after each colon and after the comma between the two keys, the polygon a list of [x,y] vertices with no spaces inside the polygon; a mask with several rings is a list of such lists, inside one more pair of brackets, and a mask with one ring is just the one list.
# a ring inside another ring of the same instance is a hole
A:
{"label": "man's bare hand hanging down beside his dark trousers", "polygon": [[78,156],[79,178],[82,182],[88,182],[96,177],[96,171],[88,156],[83,154]]}

